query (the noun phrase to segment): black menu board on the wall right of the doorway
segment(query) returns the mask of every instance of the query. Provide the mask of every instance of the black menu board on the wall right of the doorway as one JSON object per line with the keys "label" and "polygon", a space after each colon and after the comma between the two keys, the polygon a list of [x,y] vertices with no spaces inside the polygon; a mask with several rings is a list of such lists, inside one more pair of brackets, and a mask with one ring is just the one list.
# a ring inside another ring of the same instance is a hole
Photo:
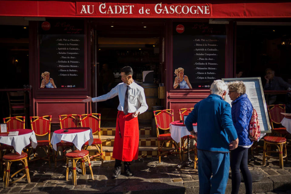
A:
{"label": "black menu board on the wall right of the doorway", "polygon": [[209,88],[214,80],[224,78],[225,50],[225,25],[174,22],[174,89]]}

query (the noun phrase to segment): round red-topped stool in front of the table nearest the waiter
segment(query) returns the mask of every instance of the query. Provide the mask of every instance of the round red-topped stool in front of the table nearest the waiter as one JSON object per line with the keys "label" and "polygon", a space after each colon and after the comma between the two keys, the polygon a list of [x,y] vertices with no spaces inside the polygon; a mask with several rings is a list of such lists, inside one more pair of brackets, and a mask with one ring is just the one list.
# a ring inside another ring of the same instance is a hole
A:
{"label": "round red-topped stool in front of the table nearest the waiter", "polygon": [[73,171],[73,175],[72,175],[73,185],[77,185],[76,164],[77,164],[79,159],[81,160],[82,175],[86,174],[85,160],[87,160],[88,165],[89,165],[89,169],[90,169],[90,172],[91,172],[91,178],[92,178],[92,180],[94,180],[92,167],[91,167],[91,162],[90,162],[90,158],[89,158],[89,151],[88,150],[81,150],[81,151],[75,150],[75,151],[72,151],[72,152],[68,152],[68,153],[66,153],[66,158],[67,158],[66,180],[68,180],[68,176],[69,176],[69,160],[71,160],[72,161],[72,171]]}

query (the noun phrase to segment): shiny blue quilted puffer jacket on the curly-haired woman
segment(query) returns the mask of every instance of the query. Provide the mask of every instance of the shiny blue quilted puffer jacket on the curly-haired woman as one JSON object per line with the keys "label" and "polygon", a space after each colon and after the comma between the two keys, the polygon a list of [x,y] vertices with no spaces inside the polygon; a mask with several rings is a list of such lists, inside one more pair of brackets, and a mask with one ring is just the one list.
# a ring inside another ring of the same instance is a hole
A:
{"label": "shiny blue quilted puffer jacket on the curly-haired woman", "polygon": [[249,146],[249,122],[253,114],[253,105],[246,94],[240,95],[231,103],[231,117],[239,138],[239,146]]}

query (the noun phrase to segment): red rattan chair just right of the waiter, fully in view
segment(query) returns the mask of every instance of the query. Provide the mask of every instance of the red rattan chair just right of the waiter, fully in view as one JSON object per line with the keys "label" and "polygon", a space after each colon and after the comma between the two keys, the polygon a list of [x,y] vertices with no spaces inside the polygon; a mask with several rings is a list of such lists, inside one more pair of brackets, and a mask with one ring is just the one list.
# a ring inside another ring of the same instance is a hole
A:
{"label": "red rattan chair just right of the waiter, fully in view", "polygon": [[[156,122],[156,131],[158,138],[158,157],[159,163],[161,162],[161,156],[167,155],[168,153],[179,154],[181,160],[181,150],[179,143],[177,144],[171,137],[169,132],[170,123],[174,122],[174,110],[165,109],[165,110],[156,110],[153,111],[155,122]],[[159,134],[159,129],[164,131],[164,134]],[[167,143],[171,142],[174,145],[174,148],[167,148]]]}

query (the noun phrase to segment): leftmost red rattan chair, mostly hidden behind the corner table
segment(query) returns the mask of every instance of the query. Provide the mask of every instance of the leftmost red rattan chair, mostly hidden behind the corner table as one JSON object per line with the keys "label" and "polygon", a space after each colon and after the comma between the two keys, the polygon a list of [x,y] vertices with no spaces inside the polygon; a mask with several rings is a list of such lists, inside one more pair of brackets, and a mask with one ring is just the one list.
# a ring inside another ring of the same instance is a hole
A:
{"label": "leftmost red rattan chair, mostly hidden behind the corner table", "polygon": [[[12,129],[25,129],[25,116],[6,117],[3,118],[3,122],[6,123],[8,132]],[[13,146],[0,144],[0,171],[2,170],[2,156],[6,151],[13,149]]]}

